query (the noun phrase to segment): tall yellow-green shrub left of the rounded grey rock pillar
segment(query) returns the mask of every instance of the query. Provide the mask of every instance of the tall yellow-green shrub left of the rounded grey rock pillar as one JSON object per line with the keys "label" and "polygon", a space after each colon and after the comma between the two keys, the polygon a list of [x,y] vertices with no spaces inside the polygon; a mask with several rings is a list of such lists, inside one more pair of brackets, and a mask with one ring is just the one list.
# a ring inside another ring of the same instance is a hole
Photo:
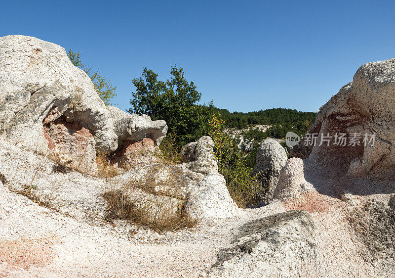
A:
{"label": "tall yellow-green shrub left of the rounded grey rock pillar", "polygon": [[239,207],[257,202],[259,181],[250,176],[252,170],[247,166],[243,153],[236,141],[225,133],[225,121],[221,115],[212,115],[208,123],[208,135],[214,141],[214,154],[218,160],[218,170],[225,177],[228,190]]}

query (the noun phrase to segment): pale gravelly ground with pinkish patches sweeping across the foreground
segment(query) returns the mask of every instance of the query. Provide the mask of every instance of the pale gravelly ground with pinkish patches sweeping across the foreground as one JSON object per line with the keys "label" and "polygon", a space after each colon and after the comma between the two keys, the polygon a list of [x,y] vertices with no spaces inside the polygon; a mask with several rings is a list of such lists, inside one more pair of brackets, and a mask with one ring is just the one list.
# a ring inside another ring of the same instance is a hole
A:
{"label": "pale gravelly ground with pinkish patches sweeping across the foreground", "polygon": [[[351,206],[338,198],[313,192],[159,234],[104,222],[105,180],[54,173],[53,165],[0,140],[0,277],[204,277],[242,224],[291,209],[308,210],[316,222],[321,267],[309,276],[379,277],[345,220]],[[46,207],[16,192],[29,183]]]}

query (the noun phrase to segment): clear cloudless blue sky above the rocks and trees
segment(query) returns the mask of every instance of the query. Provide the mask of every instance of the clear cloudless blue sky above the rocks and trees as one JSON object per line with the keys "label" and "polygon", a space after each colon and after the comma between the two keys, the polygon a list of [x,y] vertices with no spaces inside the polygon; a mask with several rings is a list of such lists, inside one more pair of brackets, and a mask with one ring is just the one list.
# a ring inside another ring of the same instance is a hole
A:
{"label": "clear cloudless blue sky above the rocks and trees", "polygon": [[394,1],[1,1],[0,36],[81,52],[129,107],[143,67],[184,68],[217,107],[316,111],[356,69],[395,57]]}

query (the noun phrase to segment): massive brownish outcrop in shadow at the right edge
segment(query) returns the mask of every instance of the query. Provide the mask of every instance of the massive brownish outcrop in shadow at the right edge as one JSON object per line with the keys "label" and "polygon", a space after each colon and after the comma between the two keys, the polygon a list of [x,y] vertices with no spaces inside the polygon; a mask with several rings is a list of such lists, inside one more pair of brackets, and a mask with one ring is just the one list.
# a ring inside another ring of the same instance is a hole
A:
{"label": "massive brownish outcrop in shadow at the right edge", "polygon": [[[310,146],[309,163],[339,164],[349,177],[394,179],[394,112],[395,59],[362,65],[353,82],[319,109],[310,129],[317,143]],[[328,134],[330,140],[322,141]],[[343,144],[336,134],[345,134],[347,142]]]}

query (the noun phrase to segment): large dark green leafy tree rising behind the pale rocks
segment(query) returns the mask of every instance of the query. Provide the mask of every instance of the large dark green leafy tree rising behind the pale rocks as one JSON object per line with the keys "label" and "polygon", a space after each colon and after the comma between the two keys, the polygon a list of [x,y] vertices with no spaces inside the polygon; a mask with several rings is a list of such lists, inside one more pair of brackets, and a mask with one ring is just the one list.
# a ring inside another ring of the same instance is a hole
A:
{"label": "large dark green leafy tree rising behind the pale rocks", "polygon": [[179,144],[199,139],[207,130],[213,109],[212,102],[199,105],[201,93],[194,82],[188,82],[181,67],[171,66],[170,78],[158,80],[158,74],[144,68],[141,77],[132,79],[136,91],[132,92],[129,113],[146,114],[153,120],[165,120],[169,133],[176,134]]}

